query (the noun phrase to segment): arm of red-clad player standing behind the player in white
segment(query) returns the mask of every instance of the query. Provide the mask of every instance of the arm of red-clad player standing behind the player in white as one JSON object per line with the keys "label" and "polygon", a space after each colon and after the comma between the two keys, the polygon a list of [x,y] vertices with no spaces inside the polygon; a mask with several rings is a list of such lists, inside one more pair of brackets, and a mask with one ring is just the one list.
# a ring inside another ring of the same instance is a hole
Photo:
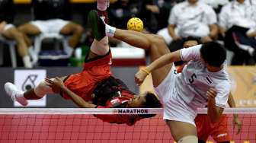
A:
{"label": "arm of red-clad player standing behind the player in white", "polygon": [[[229,100],[228,100],[228,103],[229,103],[229,106],[230,106],[231,108],[235,108],[235,100],[234,100],[234,98],[233,98],[233,96],[232,96],[231,93],[229,93]],[[235,128],[235,126],[238,127],[238,132],[237,132],[237,134],[238,134],[239,132],[241,132],[241,129],[242,129],[242,122],[241,122],[240,119],[238,118],[238,114],[233,114],[233,126],[234,126],[234,128]]]}

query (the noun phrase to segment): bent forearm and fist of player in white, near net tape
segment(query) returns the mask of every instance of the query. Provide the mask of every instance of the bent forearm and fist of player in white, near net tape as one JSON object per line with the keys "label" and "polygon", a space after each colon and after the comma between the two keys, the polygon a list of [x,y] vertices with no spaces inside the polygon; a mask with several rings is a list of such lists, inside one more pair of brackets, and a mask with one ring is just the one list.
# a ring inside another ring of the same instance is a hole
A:
{"label": "bent forearm and fist of player in white, near net tape", "polygon": [[222,115],[224,108],[216,106],[215,97],[217,95],[217,91],[210,88],[206,95],[208,97],[207,115],[210,118],[210,122],[219,122],[219,117]]}

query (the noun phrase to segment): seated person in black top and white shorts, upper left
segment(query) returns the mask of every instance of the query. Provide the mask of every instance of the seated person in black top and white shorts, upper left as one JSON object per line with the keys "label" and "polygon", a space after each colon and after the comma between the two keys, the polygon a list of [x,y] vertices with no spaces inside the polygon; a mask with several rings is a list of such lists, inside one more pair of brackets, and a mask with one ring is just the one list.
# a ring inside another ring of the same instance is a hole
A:
{"label": "seated person in black top and white shorts, upper left", "polygon": [[33,0],[34,21],[18,27],[27,36],[40,33],[60,33],[71,35],[69,46],[75,48],[82,37],[83,28],[70,19],[69,0]]}

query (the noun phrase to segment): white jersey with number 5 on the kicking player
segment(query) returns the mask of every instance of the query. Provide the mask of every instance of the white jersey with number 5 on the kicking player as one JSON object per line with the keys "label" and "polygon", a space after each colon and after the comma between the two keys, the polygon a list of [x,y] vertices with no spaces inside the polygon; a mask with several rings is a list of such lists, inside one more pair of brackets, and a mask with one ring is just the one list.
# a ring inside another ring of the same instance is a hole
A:
{"label": "white jersey with number 5 on the kicking player", "polygon": [[190,106],[203,107],[207,103],[206,92],[213,87],[218,93],[216,106],[224,108],[231,90],[226,66],[217,72],[208,71],[200,59],[201,47],[181,49],[181,59],[189,62],[175,80],[177,94]]}

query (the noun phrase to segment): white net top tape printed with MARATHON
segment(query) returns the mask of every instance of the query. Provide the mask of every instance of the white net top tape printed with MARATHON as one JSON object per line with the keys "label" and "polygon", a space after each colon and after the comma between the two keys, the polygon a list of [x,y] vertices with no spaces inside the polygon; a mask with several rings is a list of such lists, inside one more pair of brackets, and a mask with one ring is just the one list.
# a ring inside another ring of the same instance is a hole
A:
{"label": "white net top tape printed with MARATHON", "polygon": [[[0,108],[0,114],[162,114],[162,108]],[[206,108],[198,108],[197,113],[206,114]],[[256,108],[226,108],[225,114],[256,114]]]}

